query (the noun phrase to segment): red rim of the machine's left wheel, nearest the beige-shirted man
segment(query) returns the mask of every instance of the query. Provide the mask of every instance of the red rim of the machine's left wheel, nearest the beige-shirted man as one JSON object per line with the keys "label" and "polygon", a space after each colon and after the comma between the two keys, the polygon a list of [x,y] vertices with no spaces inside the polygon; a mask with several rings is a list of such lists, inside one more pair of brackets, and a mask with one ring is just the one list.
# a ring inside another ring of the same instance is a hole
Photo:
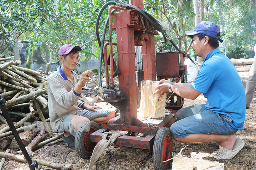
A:
{"label": "red rim of the machine's left wheel, nearest the beige-shirted man", "polygon": [[93,143],[90,141],[91,133],[95,132],[97,129],[94,127],[89,128],[88,131],[85,132],[84,138],[83,138],[83,145],[84,145],[84,151],[86,153],[92,153],[93,148],[95,147],[96,143]]}

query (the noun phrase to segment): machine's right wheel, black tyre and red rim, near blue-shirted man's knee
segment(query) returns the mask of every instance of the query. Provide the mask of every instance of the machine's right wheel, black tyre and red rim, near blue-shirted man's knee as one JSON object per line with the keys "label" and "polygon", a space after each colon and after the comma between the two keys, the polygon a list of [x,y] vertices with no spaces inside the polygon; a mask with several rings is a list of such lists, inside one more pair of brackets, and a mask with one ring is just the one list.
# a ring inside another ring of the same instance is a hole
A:
{"label": "machine's right wheel, black tyre and red rim, near blue-shirted man's knee", "polygon": [[166,170],[171,161],[163,162],[170,159],[172,153],[172,136],[171,130],[166,127],[160,128],[155,137],[153,146],[153,165],[156,170]]}

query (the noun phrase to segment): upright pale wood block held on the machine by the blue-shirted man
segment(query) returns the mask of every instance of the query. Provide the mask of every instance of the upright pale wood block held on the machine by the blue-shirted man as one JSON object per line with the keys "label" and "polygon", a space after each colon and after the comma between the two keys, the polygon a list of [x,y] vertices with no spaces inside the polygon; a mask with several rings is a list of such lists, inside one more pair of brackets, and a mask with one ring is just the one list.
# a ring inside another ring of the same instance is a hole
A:
{"label": "upright pale wood block held on the machine by the blue-shirted man", "polygon": [[152,94],[158,81],[141,81],[140,112],[138,117],[163,117],[166,105],[166,93],[156,100],[157,95]]}

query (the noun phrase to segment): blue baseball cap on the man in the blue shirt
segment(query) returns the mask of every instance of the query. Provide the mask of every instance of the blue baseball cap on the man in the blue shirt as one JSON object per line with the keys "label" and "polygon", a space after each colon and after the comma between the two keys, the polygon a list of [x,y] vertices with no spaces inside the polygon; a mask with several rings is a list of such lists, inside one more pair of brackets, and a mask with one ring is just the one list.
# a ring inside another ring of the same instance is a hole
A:
{"label": "blue baseball cap on the man in the blue shirt", "polygon": [[223,40],[221,40],[218,36],[218,34],[220,33],[220,27],[217,26],[216,24],[214,24],[211,21],[202,21],[202,22],[200,22],[199,24],[196,25],[195,30],[185,31],[185,33],[188,36],[190,36],[191,38],[193,38],[193,35],[203,33],[203,34],[208,35],[212,38],[216,38],[220,42],[223,42]]}

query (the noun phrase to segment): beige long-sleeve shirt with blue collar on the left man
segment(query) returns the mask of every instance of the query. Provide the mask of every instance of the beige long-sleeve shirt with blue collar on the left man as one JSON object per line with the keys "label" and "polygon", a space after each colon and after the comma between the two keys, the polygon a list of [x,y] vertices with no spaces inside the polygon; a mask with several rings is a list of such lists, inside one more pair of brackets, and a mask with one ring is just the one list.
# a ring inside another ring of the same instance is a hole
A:
{"label": "beige long-sleeve shirt with blue collar on the left man", "polygon": [[77,79],[76,73],[71,71],[73,83],[60,67],[47,78],[49,116],[53,130],[58,129],[64,116],[75,115],[78,111],[83,110],[81,107],[84,105],[79,100],[81,94],[77,94],[74,90]]}

